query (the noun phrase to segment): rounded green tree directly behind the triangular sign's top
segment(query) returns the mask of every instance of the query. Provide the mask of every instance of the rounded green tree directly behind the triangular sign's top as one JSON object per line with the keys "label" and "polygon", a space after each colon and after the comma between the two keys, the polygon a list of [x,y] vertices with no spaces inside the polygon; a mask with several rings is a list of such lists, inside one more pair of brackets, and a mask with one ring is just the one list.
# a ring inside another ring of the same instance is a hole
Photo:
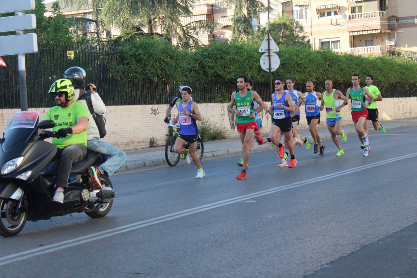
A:
{"label": "rounded green tree directly behind the triangular sign's top", "polygon": [[311,48],[310,40],[303,35],[303,26],[294,18],[278,15],[265,27],[254,31],[248,38],[250,45],[261,45],[266,33],[269,33],[277,45]]}

